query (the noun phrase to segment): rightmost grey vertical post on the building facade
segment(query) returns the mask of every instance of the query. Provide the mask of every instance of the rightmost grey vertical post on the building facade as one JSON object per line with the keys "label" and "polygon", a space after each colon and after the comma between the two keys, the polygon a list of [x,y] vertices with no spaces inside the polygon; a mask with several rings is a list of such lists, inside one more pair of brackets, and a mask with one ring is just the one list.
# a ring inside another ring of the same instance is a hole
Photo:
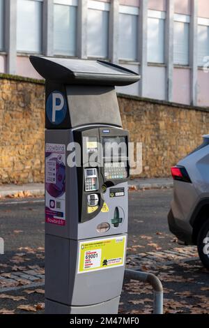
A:
{"label": "rightmost grey vertical post on the building facade", "polygon": [[197,73],[198,73],[198,42],[197,42],[197,29],[198,29],[198,1],[191,0],[192,15],[190,22],[190,45],[189,45],[189,64],[191,66],[191,87],[190,99],[191,105],[197,105]]}

